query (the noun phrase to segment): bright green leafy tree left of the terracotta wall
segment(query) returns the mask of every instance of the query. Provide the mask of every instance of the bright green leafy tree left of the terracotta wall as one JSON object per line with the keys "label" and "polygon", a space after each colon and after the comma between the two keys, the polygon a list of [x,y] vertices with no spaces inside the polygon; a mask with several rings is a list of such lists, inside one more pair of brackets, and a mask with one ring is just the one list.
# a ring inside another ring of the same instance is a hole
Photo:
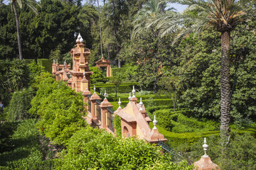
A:
{"label": "bright green leafy tree left of the terracotta wall", "polygon": [[50,75],[41,80],[31,106],[30,113],[40,117],[37,125],[41,134],[59,145],[65,145],[76,130],[85,127],[82,95]]}

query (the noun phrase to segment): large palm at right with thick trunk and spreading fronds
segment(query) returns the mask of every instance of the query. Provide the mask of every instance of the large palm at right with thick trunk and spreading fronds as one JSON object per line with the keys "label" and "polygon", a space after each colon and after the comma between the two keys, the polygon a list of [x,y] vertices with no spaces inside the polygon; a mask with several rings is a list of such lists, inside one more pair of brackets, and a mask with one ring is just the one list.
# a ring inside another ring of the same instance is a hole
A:
{"label": "large palm at right with thick trunk and spreading fronds", "polygon": [[[220,67],[220,136],[222,143],[228,145],[230,139],[230,33],[238,24],[248,21],[255,14],[255,8],[245,8],[248,4],[235,0],[177,0],[170,1],[188,5],[186,13],[168,16],[168,13],[156,16],[151,24],[157,24],[161,35],[181,28],[178,38],[194,32],[199,33],[206,26],[213,26],[221,33]],[[254,11],[253,11],[254,10]],[[195,14],[196,13],[196,14]],[[174,42],[176,42],[174,40]]]}

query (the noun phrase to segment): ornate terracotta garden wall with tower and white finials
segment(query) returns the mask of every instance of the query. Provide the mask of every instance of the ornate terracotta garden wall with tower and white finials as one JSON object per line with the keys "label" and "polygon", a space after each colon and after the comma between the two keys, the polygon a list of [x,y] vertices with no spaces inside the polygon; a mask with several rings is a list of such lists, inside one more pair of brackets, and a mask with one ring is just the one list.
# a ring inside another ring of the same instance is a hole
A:
{"label": "ornate terracotta garden wall with tower and white finials", "polygon": [[[149,127],[151,119],[149,115],[146,114],[145,106],[142,103],[142,98],[140,102],[137,103],[137,97],[135,96],[135,89],[132,90],[129,95],[129,103],[124,108],[121,108],[121,101],[119,98],[119,108],[117,111],[112,110],[112,104],[107,101],[107,94],[105,92],[105,98],[97,95],[96,88],[94,88],[94,93],[90,92],[90,75],[93,72],[89,71],[88,59],[90,55],[90,50],[85,48],[82,43],[82,36],[79,34],[76,40],[77,44],[75,48],[70,50],[71,55],[73,55],[73,70],[70,70],[70,64],[64,62],[64,64],[58,64],[58,61],[53,60],[52,70],[53,75],[55,75],[56,81],[68,81],[68,86],[72,87],[77,92],[82,92],[84,96],[83,101],[87,103],[87,116],[84,117],[88,124],[93,127],[105,129],[108,132],[115,135],[116,130],[114,129],[114,115],[118,115],[121,118],[121,128],[123,137],[134,137],[137,136],[139,139],[146,140],[146,142],[156,143],[166,142],[164,135],[159,133],[156,128],[156,116],[154,116],[154,128]],[[107,60],[102,58],[98,60],[99,63],[103,63]],[[97,63],[96,63],[97,64]],[[110,67],[109,67],[110,68]],[[110,73],[108,74],[110,75]],[[69,78],[68,78],[69,77]],[[206,154],[208,145],[203,145],[205,154],[201,157],[198,162],[194,163],[194,169],[210,170],[210,169],[220,169],[218,165],[211,162],[210,157]]]}

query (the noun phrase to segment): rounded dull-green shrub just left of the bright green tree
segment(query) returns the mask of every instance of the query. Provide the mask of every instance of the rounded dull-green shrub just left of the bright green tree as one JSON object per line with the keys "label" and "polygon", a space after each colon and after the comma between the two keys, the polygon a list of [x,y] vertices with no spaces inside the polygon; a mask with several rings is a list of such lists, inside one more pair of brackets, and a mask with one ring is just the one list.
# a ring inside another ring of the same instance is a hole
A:
{"label": "rounded dull-green shrub just left of the bright green tree", "polygon": [[11,96],[9,107],[5,109],[7,120],[23,120],[31,118],[28,110],[31,108],[31,99],[35,91],[32,88],[16,91]]}

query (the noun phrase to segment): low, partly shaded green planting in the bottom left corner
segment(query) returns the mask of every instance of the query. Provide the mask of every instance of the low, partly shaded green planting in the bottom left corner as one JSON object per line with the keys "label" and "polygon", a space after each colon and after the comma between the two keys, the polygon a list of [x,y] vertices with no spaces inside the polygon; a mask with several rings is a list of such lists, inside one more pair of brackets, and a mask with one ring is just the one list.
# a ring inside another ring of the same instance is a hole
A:
{"label": "low, partly shaded green planting in the bottom left corner", "polygon": [[[5,127],[5,124],[9,126]],[[36,120],[33,119],[22,120],[14,123],[16,129],[12,130],[9,123],[1,124],[1,128],[5,127],[10,133],[4,135],[7,139],[4,144],[0,143],[7,147],[5,150],[1,149],[0,169],[53,169],[50,160],[43,161],[35,124]]]}

